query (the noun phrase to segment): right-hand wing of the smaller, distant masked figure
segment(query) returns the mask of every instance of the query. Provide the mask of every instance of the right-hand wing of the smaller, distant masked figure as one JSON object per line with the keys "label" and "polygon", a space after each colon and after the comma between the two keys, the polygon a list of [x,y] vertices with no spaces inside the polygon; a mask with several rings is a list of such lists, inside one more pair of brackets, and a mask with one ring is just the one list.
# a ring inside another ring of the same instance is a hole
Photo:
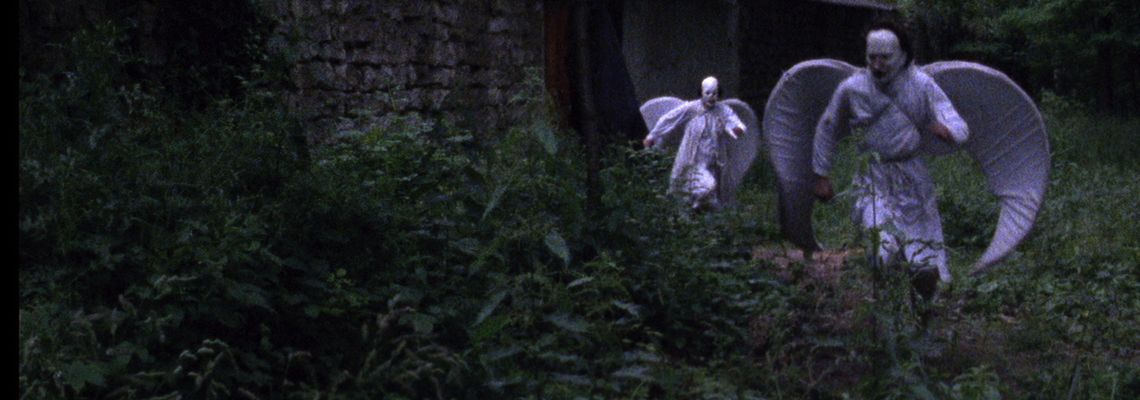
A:
{"label": "right-hand wing of the smaller, distant masked figure", "polygon": [[744,175],[748,174],[748,169],[752,165],[756,153],[760,148],[760,125],[756,112],[747,103],[740,99],[727,99],[723,103],[732,108],[732,112],[736,113],[740,121],[744,123],[743,136],[735,140],[728,138],[720,140],[722,146],[727,146],[725,154],[728,160],[725,161],[725,169],[720,173],[720,182],[717,182],[717,186],[720,199],[726,205],[732,205],[736,203],[736,189],[744,181]]}

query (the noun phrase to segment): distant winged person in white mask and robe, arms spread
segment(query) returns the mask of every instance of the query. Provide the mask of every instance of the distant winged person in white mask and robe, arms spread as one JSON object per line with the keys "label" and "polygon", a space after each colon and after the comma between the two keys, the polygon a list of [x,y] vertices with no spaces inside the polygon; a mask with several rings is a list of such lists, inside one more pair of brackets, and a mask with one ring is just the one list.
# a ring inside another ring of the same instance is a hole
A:
{"label": "distant winged person in white mask and robe, arms spread", "polygon": [[[646,148],[676,147],[669,193],[694,210],[735,204],[736,189],[756,158],[760,128],[756,113],[739,99],[720,100],[716,77],[701,82],[701,98],[658,97],[641,107]],[[679,144],[679,146],[678,146]]]}

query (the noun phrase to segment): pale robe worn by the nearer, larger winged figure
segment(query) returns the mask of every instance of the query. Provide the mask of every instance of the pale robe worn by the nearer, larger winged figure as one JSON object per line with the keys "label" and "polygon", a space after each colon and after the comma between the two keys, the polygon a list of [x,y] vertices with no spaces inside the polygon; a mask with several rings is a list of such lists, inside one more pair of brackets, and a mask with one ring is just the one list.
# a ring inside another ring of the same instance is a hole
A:
{"label": "pale robe worn by the nearer, larger winged figure", "polygon": [[879,163],[856,174],[852,218],[864,229],[880,229],[879,260],[937,267],[943,281],[951,275],[943,248],[934,182],[919,157],[920,130],[933,121],[945,125],[953,140],[969,131],[950,99],[929,75],[910,66],[885,88],[861,70],[836,89],[815,131],[812,169],[828,175],[836,144],[852,130],[862,132],[861,152],[879,154]]}

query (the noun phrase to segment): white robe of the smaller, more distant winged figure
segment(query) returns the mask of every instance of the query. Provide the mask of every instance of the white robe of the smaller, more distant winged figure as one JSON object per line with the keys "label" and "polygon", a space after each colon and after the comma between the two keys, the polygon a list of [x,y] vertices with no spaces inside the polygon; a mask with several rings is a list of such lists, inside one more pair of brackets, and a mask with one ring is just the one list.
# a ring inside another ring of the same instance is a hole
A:
{"label": "white robe of the smaller, more distant winged figure", "polygon": [[679,131],[677,128],[682,124],[684,137],[673,162],[669,193],[685,196],[693,207],[719,207],[723,196],[718,194],[717,182],[727,160],[725,145],[728,145],[723,140],[733,140],[730,132],[736,128],[743,131],[746,126],[724,103],[706,108],[701,100],[692,100],[662,115],[649,138],[668,140],[667,136]]}

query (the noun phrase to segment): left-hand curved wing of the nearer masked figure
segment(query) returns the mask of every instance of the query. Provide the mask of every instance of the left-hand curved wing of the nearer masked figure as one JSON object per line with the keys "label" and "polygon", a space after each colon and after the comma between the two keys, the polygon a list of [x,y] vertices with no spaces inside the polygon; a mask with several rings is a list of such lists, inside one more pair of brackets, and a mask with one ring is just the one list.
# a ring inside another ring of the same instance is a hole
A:
{"label": "left-hand curved wing of the nearer masked figure", "polygon": [[800,248],[820,248],[812,229],[815,125],[831,95],[856,68],[836,59],[813,59],[784,72],[764,107],[764,140],[780,190],[780,230]]}

